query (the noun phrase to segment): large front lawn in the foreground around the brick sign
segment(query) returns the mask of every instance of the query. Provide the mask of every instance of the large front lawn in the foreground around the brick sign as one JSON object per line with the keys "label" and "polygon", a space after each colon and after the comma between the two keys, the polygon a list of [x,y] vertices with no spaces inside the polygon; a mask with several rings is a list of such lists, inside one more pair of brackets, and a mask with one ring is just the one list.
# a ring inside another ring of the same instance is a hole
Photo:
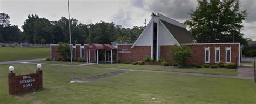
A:
{"label": "large front lawn in the foreground around the brick sign", "polygon": [[[36,70],[33,64],[12,65],[19,74]],[[7,82],[8,66],[0,65],[0,103],[256,102],[256,84],[253,80],[132,71],[90,83],[69,83],[69,66],[51,65],[42,67],[43,90],[10,96]],[[112,70],[75,67],[77,77],[94,76],[104,71]]]}

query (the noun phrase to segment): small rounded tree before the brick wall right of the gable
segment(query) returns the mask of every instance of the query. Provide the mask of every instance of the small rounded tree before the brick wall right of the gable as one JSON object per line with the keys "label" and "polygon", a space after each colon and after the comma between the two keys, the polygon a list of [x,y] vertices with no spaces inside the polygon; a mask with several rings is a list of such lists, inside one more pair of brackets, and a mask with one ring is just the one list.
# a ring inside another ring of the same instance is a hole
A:
{"label": "small rounded tree before the brick wall right of the gable", "polygon": [[184,66],[187,57],[190,57],[192,52],[186,46],[174,46],[170,49],[170,57],[179,65]]}

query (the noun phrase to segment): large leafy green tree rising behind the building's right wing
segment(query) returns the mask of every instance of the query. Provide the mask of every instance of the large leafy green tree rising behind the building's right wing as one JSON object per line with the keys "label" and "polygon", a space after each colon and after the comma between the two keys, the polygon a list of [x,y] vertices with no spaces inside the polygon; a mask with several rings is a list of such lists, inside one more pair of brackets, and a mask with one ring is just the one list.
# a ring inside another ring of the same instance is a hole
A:
{"label": "large leafy green tree rising behind the building's right wing", "polygon": [[247,13],[240,11],[239,0],[201,0],[190,16],[185,24],[199,43],[233,42],[234,37],[234,42],[246,44],[241,28]]}

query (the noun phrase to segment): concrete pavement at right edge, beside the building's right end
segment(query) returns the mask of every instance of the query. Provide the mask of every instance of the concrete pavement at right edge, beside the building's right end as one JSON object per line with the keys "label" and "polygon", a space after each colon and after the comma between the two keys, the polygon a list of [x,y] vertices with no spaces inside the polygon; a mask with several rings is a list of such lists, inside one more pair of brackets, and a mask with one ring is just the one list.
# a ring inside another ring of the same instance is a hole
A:
{"label": "concrete pavement at right edge, beside the building's right end", "polygon": [[239,67],[238,68],[239,79],[254,79],[254,68],[253,67]]}

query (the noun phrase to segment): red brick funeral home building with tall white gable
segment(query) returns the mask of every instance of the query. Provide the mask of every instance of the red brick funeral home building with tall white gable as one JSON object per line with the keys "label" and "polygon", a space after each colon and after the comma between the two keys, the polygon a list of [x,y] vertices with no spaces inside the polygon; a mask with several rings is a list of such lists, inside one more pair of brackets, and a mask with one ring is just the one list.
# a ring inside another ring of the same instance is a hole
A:
{"label": "red brick funeral home building with tall white gable", "polygon": [[[145,56],[164,59],[172,62],[168,56],[171,47],[185,45],[192,51],[188,64],[215,64],[218,62],[233,62],[240,65],[240,43],[197,43],[187,31],[186,25],[162,14],[151,15],[149,24],[145,27],[136,42],[132,44],[76,44],[73,46],[74,58],[90,58],[94,62],[139,61]],[[86,47],[93,47],[92,49]],[[102,48],[100,48],[102,47]],[[60,58],[56,53],[57,45],[51,45],[51,59]],[[88,55],[87,55],[88,54]]]}

